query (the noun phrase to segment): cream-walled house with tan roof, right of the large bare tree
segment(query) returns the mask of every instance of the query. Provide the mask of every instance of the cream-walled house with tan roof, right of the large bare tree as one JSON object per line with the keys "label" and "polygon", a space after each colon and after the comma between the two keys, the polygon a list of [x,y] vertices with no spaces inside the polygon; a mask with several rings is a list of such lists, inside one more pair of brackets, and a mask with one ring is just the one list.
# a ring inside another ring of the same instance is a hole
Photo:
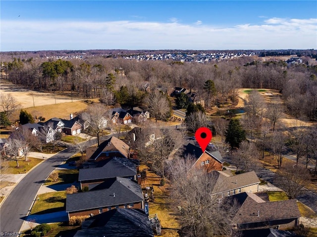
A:
{"label": "cream-walled house with tan roof, right of the large bare tree", "polygon": [[258,193],[260,180],[255,171],[228,175],[222,171],[218,173],[217,181],[213,187],[212,194],[220,195],[220,198],[240,193]]}

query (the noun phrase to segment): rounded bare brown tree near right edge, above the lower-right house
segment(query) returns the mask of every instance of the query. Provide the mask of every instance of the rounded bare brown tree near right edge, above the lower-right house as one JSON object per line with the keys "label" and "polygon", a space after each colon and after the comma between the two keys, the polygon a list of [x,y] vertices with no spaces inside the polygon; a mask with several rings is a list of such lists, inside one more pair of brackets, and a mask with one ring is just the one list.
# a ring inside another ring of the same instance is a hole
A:
{"label": "rounded bare brown tree near right edge, above the lower-right house", "polygon": [[287,163],[277,172],[277,182],[285,191],[288,199],[293,199],[301,195],[303,187],[310,183],[311,175],[309,171],[301,165]]}

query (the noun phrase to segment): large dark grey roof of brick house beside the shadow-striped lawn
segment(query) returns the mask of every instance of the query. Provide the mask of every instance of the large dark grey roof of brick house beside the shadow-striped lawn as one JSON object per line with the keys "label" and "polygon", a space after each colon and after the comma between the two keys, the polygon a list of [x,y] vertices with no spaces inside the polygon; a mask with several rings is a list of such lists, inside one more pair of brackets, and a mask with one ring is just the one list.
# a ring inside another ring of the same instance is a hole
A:
{"label": "large dark grey roof of brick house beside the shadow-striped lawn", "polygon": [[66,212],[144,201],[141,186],[130,179],[116,177],[103,184],[107,189],[68,194]]}

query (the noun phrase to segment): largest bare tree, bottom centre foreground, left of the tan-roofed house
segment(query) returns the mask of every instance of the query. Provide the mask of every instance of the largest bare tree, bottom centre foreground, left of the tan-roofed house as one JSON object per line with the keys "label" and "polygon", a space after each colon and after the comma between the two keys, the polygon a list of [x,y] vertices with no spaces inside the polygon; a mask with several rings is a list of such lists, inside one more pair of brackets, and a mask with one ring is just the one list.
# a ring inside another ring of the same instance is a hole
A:
{"label": "largest bare tree, bottom centre foreground, left of the tan-roofed house", "polygon": [[171,181],[171,207],[179,217],[181,236],[231,236],[231,220],[236,203],[226,203],[213,195],[217,189],[217,172],[209,174],[193,169],[189,159],[173,160],[168,166]]}

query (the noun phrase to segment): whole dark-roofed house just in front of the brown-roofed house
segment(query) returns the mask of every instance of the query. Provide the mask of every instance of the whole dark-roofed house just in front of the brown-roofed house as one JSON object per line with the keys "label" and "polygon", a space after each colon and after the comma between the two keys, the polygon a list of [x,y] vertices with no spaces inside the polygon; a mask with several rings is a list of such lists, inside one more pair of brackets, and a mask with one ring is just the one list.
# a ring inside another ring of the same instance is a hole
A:
{"label": "whole dark-roofed house just in front of the brown-roofed house", "polygon": [[[83,169],[79,169],[78,181],[80,188],[89,189],[101,184],[108,179],[124,177],[137,180],[140,162],[136,159],[112,157],[100,162],[88,163]],[[141,181],[141,180],[140,180]]]}

